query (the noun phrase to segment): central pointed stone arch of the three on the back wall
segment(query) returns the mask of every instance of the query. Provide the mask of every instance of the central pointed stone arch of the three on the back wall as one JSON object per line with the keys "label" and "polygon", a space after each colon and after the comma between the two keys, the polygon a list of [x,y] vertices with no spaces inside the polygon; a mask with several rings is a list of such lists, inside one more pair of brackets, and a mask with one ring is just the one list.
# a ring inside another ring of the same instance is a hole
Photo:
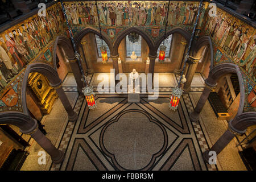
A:
{"label": "central pointed stone arch of the three on the back wall", "polygon": [[119,44],[121,43],[121,41],[123,40],[123,38],[125,38],[126,35],[130,34],[130,32],[136,32],[137,34],[141,35],[142,38],[147,42],[147,45],[149,47],[150,50],[150,54],[151,52],[154,50],[154,42],[153,40],[150,38],[150,36],[148,36],[146,34],[146,32],[142,31],[141,29],[137,28],[137,27],[130,27],[127,28],[126,30],[122,31],[120,35],[117,36],[117,38],[115,38],[115,41],[113,43],[113,52],[112,55],[118,55],[118,47]]}

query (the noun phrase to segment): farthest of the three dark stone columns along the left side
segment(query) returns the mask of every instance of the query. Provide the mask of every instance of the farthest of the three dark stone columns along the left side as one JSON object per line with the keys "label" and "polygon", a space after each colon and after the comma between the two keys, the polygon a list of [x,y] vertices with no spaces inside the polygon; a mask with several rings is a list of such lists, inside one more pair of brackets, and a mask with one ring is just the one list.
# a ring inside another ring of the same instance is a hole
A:
{"label": "farthest of the three dark stone columns along the left side", "polygon": [[71,66],[73,75],[76,80],[77,84],[77,91],[79,93],[82,93],[82,88],[83,88],[83,82],[82,82],[82,74],[79,68],[79,63],[77,62],[77,59],[74,57],[73,59],[68,59],[69,65]]}

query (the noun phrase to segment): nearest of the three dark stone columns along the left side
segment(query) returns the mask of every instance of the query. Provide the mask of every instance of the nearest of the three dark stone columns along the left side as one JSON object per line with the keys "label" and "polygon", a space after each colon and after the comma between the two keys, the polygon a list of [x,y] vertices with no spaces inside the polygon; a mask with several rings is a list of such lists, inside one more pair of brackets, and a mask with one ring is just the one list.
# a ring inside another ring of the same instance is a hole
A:
{"label": "nearest of the three dark stone columns along the left side", "polygon": [[57,150],[55,146],[51,143],[51,141],[46,138],[46,136],[36,127],[34,131],[31,133],[27,133],[31,135],[32,138],[51,156],[52,162],[59,164],[64,160],[63,151]]}

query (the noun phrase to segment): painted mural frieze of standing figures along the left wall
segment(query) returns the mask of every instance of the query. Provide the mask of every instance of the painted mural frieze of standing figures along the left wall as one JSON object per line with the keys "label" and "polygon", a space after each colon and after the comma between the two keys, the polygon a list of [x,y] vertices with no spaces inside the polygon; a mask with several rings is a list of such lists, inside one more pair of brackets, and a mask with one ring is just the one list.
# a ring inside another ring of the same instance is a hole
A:
{"label": "painted mural frieze of standing figures along the left wall", "polygon": [[52,64],[51,46],[64,28],[64,16],[56,3],[46,10],[46,16],[33,15],[0,33],[1,96],[28,64],[38,59]]}

